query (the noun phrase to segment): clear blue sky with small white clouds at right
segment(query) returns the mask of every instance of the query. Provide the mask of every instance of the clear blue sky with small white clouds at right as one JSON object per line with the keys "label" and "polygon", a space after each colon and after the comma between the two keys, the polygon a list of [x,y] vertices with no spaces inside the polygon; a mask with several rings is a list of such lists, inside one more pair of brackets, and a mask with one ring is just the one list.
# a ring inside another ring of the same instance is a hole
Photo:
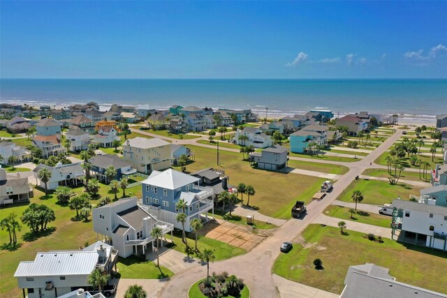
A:
{"label": "clear blue sky with small white clouds at right", "polygon": [[447,77],[447,1],[0,5],[1,77]]}

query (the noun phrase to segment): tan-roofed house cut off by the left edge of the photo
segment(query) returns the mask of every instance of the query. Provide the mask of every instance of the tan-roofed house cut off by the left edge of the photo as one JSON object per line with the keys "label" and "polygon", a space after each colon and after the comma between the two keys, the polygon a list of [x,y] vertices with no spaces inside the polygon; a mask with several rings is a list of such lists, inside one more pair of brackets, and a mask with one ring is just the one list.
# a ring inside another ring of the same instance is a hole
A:
{"label": "tan-roofed house cut off by the left edge of the photo", "polygon": [[20,172],[7,175],[0,167],[0,205],[27,202],[32,193],[28,177],[20,177]]}

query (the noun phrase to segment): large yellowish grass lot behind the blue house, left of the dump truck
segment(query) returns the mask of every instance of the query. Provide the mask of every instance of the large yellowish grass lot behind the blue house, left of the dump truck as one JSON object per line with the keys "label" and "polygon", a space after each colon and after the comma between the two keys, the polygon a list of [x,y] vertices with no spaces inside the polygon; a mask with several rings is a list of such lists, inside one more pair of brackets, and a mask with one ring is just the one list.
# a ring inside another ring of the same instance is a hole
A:
{"label": "large yellowish grass lot behind the blue house, left of the dump truck", "polygon": [[[230,185],[237,186],[241,182],[251,184],[256,194],[251,196],[250,205],[268,216],[291,218],[291,207],[295,201],[312,200],[312,195],[320,189],[324,181],[307,175],[254,169],[247,161],[242,161],[242,154],[223,150],[219,154],[218,166],[216,149],[193,145],[187,147],[196,154],[196,161],[186,165],[187,171],[214,167],[225,170],[225,174],[230,177]],[[179,170],[179,167],[174,168]],[[268,183],[265,183],[266,181]],[[244,195],[244,202],[247,202],[247,195]]]}

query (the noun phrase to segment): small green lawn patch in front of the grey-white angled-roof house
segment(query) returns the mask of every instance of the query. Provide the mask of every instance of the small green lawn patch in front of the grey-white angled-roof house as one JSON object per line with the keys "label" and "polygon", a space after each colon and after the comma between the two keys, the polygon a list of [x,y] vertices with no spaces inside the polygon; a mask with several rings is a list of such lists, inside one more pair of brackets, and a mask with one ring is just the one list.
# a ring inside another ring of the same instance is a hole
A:
{"label": "small green lawn patch in front of the grey-white angled-roof house", "polygon": [[174,275],[168,268],[156,267],[156,261],[149,262],[135,255],[118,258],[117,269],[119,278],[159,279]]}

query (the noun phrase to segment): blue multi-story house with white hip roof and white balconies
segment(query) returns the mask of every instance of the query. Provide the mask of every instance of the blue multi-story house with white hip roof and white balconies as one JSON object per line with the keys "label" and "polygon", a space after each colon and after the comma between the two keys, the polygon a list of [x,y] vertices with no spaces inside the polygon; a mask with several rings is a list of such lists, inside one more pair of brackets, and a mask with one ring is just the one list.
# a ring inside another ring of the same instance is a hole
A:
{"label": "blue multi-story house with white hip roof and white balconies", "polygon": [[176,204],[184,200],[187,205],[184,228],[191,232],[191,219],[208,221],[208,212],[212,211],[214,215],[213,188],[198,186],[199,182],[199,178],[173,169],[154,171],[141,182],[142,202],[157,219],[172,223],[180,229],[182,224],[175,218],[182,210],[177,209]]}

